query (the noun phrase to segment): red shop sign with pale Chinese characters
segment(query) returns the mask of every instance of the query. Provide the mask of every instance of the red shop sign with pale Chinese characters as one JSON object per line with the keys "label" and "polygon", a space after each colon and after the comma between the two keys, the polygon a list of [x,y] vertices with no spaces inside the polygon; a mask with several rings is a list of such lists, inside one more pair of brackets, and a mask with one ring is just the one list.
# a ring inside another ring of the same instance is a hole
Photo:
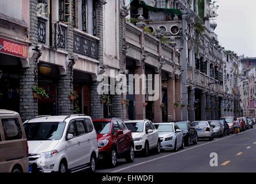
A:
{"label": "red shop sign with pale Chinese characters", "polygon": [[17,41],[12,41],[0,37],[0,53],[8,55],[28,58],[28,44],[22,44]]}

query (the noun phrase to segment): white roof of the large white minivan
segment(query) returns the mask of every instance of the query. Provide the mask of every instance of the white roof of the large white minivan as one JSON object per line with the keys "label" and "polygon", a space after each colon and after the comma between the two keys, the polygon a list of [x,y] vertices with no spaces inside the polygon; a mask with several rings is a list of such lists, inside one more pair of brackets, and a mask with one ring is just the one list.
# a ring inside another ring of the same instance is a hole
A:
{"label": "white roof of the large white minivan", "polygon": [[25,122],[63,122],[63,121],[70,121],[73,120],[74,118],[91,118],[89,116],[81,116],[81,115],[76,115],[72,114],[70,116],[37,116],[35,118],[32,118],[30,120],[27,120]]}

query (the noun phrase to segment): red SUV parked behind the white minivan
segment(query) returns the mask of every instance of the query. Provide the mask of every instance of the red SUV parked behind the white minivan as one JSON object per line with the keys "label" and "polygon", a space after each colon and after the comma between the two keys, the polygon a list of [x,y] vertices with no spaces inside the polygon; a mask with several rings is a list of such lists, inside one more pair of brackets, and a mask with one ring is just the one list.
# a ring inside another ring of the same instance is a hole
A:
{"label": "red SUV parked behind the white minivan", "polygon": [[92,121],[97,132],[99,161],[105,160],[111,167],[116,166],[117,158],[125,158],[126,162],[133,162],[133,137],[123,121],[118,118]]}

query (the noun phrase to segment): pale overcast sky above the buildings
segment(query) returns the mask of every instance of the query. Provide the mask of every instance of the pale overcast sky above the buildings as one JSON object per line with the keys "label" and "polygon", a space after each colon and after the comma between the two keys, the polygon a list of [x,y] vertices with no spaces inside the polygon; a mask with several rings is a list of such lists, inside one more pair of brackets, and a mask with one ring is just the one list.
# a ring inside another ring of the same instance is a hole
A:
{"label": "pale overcast sky above the buildings", "polygon": [[220,45],[244,57],[256,57],[256,0],[217,0],[215,22]]}

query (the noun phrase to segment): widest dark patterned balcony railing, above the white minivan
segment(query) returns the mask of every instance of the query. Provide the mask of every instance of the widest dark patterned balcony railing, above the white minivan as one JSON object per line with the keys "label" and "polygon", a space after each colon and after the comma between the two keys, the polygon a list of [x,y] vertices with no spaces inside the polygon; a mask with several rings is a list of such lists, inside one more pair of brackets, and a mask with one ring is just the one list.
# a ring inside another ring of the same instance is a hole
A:
{"label": "widest dark patterned balcony railing, above the white minivan", "polygon": [[74,34],[74,52],[97,59],[98,50],[99,44],[97,40],[93,40],[79,34]]}

